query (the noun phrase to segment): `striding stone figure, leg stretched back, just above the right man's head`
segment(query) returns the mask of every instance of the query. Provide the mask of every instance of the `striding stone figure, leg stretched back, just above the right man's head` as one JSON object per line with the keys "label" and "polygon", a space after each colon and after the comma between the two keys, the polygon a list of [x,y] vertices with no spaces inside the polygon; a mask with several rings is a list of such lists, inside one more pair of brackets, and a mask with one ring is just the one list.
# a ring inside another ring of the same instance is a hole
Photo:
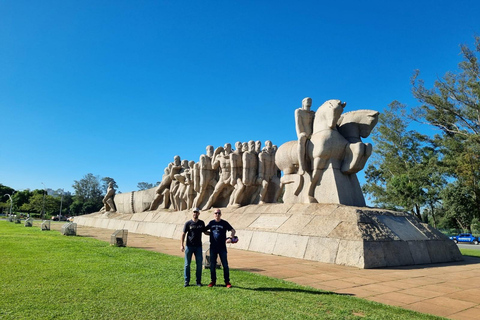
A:
{"label": "striding stone figure, leg stretched back, just above the right man's head", "polygon": [[[205,209],[210,209],[215,201],[217,200],[218,196],[228,187],[231,188],[231,163],[230,163],[230,154],[232,153],[232,145],[230,143],[225,143],[224,148],[218,147],[215,150],[212,159],[212,168],[216,170],[219,168],[219,179],[217,184],[215,185],[215,190],[213,191],[212,195],[208,199],[207,204],[205,205]],[[230,190],[231,193],[232,190]],[[229,197],[226,197],[227,199]]]}

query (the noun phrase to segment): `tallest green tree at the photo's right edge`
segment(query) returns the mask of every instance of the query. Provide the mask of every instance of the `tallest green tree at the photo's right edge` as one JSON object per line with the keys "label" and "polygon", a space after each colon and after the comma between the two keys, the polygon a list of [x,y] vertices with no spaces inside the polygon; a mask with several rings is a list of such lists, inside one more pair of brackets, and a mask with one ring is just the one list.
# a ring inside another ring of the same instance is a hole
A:
{"label": "tallest green tree at the photo's right edge", "polygon": [[[468,207],[473,210],[472,218],[480,218],[480,37],[475,38],[474,49],[462,45],[461,53],[463,61],[457,73],[447,72],[428,89],[417,71],[412,85],[413,94],[421,103],[414,117],[440,130],[435,141],[443,155],[443,170],[455,180],[456,187],[445,191],[455,194],[443,195],[444,205],[448,203],[456,209],[446,208],[446,211],[457,214],[454,220],[464,228],[467,224],[464,219],[470,216],[459,210]],[[468,194],[458,194],[456,188],[460,186]],[[475,206],[465,206],[465,197]]]}

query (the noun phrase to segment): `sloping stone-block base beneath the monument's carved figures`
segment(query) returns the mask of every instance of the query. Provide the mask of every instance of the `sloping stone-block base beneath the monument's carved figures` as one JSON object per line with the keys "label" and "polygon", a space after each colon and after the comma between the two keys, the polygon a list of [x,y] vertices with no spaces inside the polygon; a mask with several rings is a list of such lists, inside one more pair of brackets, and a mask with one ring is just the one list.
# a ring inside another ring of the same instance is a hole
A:
{"label": "sloping stone-block base beneath the monument's carved figures", "polygon": [[[205,223],[213,210],[202,212]],[[78,225],[180,239],[190,211],[93,213]],[[263,204],[222,209],[237,230],[235,249],[358,268],[461,261],[448,237],[405,212],[338,204]]]}

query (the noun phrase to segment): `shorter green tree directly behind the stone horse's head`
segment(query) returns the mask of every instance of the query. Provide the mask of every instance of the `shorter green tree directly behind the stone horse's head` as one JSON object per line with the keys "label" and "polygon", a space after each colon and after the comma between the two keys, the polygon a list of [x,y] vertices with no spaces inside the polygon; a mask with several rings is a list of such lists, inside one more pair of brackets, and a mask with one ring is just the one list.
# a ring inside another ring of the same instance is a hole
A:
{"label": "shorter green tree directly behind the stone horse's head", "polygon": [[408,130],[408,125],[405,106],[397,101],[380,115],[363,191],[381,207],[410,211],[422,219],[427,204],[435,214],[444,178],[435,169],[439,162],[435,145],[425,135]]}

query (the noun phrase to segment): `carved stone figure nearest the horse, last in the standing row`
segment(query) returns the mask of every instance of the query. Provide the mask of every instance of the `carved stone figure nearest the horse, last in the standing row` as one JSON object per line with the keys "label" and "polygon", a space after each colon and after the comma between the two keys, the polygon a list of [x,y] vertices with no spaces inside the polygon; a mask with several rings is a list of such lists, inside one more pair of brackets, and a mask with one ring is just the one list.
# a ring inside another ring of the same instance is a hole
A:
{"label": "carved stone figure nearest the horse, last in the standing row", "polygon": [[[265,148],[258,155],[258,184],[261,184],[260,204],[276,202],[280,192],[280,178],[275,164],[275,149],[270,140],[265,141]],[[267,193],[271,190],[269,193]],[[270,195],[270,197],[268,197]]]}

